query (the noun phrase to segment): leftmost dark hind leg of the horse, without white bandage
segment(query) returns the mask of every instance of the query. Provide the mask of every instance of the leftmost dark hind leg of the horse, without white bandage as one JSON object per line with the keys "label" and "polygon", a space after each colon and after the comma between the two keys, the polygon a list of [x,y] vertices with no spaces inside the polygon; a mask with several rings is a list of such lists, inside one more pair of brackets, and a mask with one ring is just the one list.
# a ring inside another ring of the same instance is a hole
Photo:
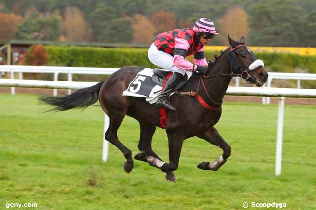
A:
{"label": "leftmost dark hind leg of the horse, without white bandage", "polygon": [[121,150],[121,152],[126,158],[126,162],[124,162],[123,168],[127,173],[129,173],[132,171],[134,166],[132,151],[129,150],[126,146],[124,146],[117,137],[117,130],[119,129],[125,115],[126,112],[116,111],[109,113],[110,125],[105,133],[105,139]]}

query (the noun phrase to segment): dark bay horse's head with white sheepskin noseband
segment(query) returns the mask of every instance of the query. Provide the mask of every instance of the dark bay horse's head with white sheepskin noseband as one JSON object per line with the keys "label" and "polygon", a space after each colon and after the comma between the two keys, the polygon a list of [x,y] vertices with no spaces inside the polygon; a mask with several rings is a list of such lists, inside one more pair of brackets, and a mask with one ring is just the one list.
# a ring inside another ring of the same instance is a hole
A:
{"label": "dark bay horse's head with white sheepskin noseband", "polygon": [[234,41],[228,34],[230,44],[230,52],[228,59],[231,62],[234,73],[256,86],[262,86],[268,78],[268,73],[265,71],[262,60],[256,59],[253,52],[246,47],[245,38],[242,36],[239,42]]}

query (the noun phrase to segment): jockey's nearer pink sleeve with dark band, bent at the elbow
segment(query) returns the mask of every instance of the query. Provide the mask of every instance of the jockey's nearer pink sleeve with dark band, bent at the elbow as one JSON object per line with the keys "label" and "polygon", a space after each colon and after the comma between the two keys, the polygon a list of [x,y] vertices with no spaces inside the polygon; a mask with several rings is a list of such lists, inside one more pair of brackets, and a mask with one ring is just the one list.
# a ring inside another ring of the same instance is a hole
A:
{"label": "jockey's nearer pink sleeve with dark band, bent at the elbow", "polygon": [[175,38],[175,51],[173,63],[176,67],[186,70],[192,70],[193,64],[185,60],[190,44],[187,40],[181,38]]}

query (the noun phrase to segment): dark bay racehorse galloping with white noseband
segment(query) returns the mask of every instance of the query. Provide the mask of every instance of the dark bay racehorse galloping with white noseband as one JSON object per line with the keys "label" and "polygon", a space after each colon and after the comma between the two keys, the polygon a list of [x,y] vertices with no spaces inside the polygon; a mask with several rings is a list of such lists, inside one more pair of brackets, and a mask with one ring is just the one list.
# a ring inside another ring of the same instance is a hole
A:
{"label": "dark bay racehorse galloping with white noseband", "polygon": [[[228,35],[230,46],[216,58],[214,65],[209,66],[207,75],[193,73],[181,92],[196,91],[210,109],[203,107],[192,97],[181,97],[174,94],[170,97],[176,111],[167,111],[168,122],[166,133],[169,142],[169,163],[164,162],[152,150],[152,136],[159,122],[159,108],[149,104],[144,98],[122,96],[129,83],[141,71],[141,67],[123,67],[98,84],[77,90],[65,97],[40,97],[47,104],[55,106],[53,110],[63,111],[73,108],[88,107],[99,100],[101,108],[110,118],[110,125],[105,133],[105,139],[115,145],[126,158],[124,170],[129,173],[134,163],[132,152],[118,139],[119,129],[126,115],[135,118],[140,124],[140,153],[135,159],[148,162],[166,173],[169,181],[176,181],[173,173],[178,168],[183,141],[197,136],[220,147],[222,156],[214,162],[201,162],[197,167],[202,170],[218,170],[230,156],[231,148],[214,128],[221,116],[221,104],[229,82],[233,76],[240,76],[256,86],[262,86],[267,81],[268,74],[263,68],[263,62],[257,60],[252,51],[246,47],[245,39],[236,42]],[[202,83],[202,84],[201,84]],[[200,88],[201,86],[201,88]],[[203,87],[202,87],[203,86]]]}

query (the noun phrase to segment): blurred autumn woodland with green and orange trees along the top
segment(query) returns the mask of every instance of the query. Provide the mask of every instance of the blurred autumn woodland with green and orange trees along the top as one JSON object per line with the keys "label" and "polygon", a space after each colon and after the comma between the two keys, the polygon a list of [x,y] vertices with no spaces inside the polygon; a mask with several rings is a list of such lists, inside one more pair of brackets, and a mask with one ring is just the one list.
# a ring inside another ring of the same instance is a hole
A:
{"label": "blurred autumn woodland with green and orange trees along the top", "polygon": [[0,0],[0,39],[149,44],[212,19],[253,46],[316,47],[315,0]]}

